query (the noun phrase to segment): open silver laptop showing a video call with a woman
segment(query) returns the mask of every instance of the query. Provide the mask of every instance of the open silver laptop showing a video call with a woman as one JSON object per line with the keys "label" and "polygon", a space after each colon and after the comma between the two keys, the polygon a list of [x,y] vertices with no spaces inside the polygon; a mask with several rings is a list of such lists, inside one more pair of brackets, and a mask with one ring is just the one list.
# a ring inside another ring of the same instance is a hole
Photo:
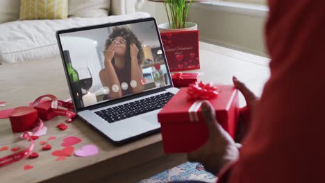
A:
{"label": "open silver laptop showing a video call with a woman", "polygon": [[173,87],[152,17],[56,33],[78,116],[113,143],[160,131],[157,114]]}

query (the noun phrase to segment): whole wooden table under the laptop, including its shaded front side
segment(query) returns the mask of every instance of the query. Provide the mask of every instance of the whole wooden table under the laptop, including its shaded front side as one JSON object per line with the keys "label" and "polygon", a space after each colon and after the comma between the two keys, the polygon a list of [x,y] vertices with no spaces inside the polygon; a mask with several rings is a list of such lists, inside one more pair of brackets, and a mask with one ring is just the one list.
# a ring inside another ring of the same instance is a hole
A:
{"label": "whole wooden table under the laptop, including its shaded front side", "polygon": [[[260,95],[263,85],[269,77],[267,58],[233,51],[220,46],[200,42],[200,60],[203,72],[201,80],[231,84],[231,77],[238,76],[247,86]],[[190,71],[194,72],[194,71]],[[26,61],[18,64],[0,65],[0,101],[8,101],[0,110],[28,105],[42,94],[54,94],[58,98],[69,98],[69,91],[63,65],[59,57],[44,60]],[[241,105],[244,100],[241,97]],[[45,125],[47,135],[36,140],[35,151],[40,154],[37,159],[23,159],[20,162],[0,168],[1,182],[135,182],[154,175],[167,168],[186,162],[185,155],[165,155],[161,134],[114,146],[101,134],[95,132],[83,121],[76,119],[65,131],[56,129],[64,123],[65,117],[57,116]],[[44,151],[38,144],[41,140],[56,136],[49,141],[52,150]],[[80,149],[85,144],[96,144],[99,154],[92,157],[67,157],[57,162],[51,155],[53,150],[63,147],[60,143],[65,137],[76,136],[82,139],[75,145]],[[19,134],[11,132],[8,119],[0,119],[0,148],[21,146]],[[0,157],[10,154],[10,150],[0,152]],[[24,171],[25,165],[34,168]]]}

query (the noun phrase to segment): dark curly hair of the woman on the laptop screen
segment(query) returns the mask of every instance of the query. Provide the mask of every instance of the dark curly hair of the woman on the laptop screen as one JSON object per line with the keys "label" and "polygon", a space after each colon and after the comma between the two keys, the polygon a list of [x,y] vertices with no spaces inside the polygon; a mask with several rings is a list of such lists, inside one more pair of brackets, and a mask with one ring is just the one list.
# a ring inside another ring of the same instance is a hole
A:
{"label": "dark curly hair of the woman on the laptop screen", "polygon": [[[130,28],[127,27],[114,27],[113,32],[108,36],[108,39],[105,43],[105,50],[112,44],[111,40],[114,40],[115,37],[122,36],[124,40],[126,40],[126,64],[131,64],[131,55],[130,55],[130,44],[135,44],[135,46],[138,47],[139,53],[138,53],[138,63],[139,65],[142,64],[144,60],[144,53],[142,49],[142,44],[140,40],[138,39],[138,36],[133,33],[133,31]],[[104,51],[105,54],[105,51]],[[113,61],[115,62],[115,60]]]}

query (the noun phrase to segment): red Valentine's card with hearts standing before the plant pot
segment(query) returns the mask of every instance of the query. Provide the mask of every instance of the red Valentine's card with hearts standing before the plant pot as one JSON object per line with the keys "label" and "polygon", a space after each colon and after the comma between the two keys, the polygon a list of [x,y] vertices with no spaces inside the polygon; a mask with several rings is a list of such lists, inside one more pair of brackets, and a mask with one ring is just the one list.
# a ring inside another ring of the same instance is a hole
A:
{"label": "red Valentine's card with hearts standing before the plant pot", "polygon": [[170,71],[200,69],[199,30],[160,33]]}

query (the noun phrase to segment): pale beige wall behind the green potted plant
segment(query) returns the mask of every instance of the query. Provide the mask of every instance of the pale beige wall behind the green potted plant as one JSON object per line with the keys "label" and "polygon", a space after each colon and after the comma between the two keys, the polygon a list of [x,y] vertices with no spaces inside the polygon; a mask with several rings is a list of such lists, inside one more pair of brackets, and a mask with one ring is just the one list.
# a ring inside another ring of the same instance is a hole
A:
{"label": "pale beige wall behind the green potted plant", "polygon": [[[263,30],[266,12],[216,7],[194,4],[190,9],[188,21],[198,24],[201,41],[267,56]],[[163,3],[144,1],[138,11],[149,12],[156,17],[158,24],[167,22]]]}

